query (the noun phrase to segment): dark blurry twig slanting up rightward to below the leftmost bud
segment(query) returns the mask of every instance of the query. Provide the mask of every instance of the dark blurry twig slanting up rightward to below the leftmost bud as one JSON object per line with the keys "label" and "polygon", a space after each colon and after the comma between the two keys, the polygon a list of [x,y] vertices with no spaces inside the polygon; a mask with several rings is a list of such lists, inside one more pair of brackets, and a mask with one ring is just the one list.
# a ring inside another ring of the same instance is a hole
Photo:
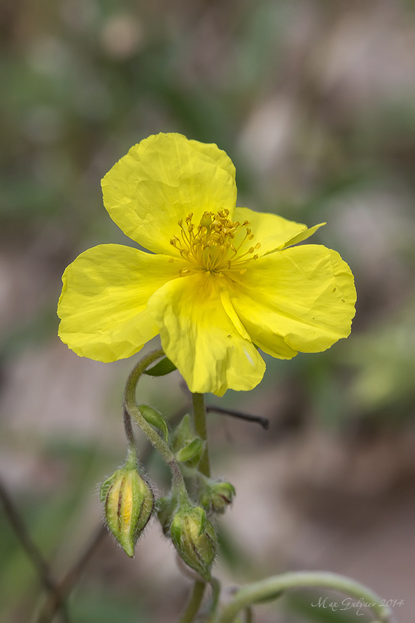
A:
{"label": "dark blurry twig slanting up rightward to below the leftmost bud", "polygon": [[49,599],[37,619],[37,623],[50,623],[53,620],[53,617],[59,608],[62,607],[64,599],[68,597],[77,584],[77,581],[79,581],[86,565],[89,563],[89,560],[93,557],[93,554],[95,554],[95,551],[98,549],[102,539],[104,539],[104,536],[107,534],[107,527],[105,525],[101,525],[91,540],[89,547],[82,552],[80,559],[75,563],[71,570],[68,571],[64,579],[59,582],[55,593],[50,594]]}

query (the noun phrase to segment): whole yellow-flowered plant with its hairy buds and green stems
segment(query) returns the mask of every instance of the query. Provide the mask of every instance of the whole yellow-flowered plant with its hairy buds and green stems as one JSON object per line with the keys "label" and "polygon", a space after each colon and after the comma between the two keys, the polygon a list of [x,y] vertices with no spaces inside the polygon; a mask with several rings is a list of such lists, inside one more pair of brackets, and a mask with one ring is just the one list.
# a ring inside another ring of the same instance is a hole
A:
{"label": "whole yellow-flowered plant with its hairy buds and green stems", "polygon": [[[102,244],[68,266],[59,335],[77,354],[99,361],[129,357],[157,334],[162,346],[138,361],[127,380],[127,460],[101,487],[109,530],[132,557],[156,510],[163,533],[196,578],[181,623],[195,620],[208,585],[204,620],[210,623],[240,621],[241,611],[252,620],[252,604],[305,586],[370,602],[386,623],[390,613],[380,599],[341,576],[287,573],[242,587],[225,603],[212,576],[215,516],[236,491],[211,477],[203,393],[255,387],[265,370],[259,350],[291,359],[349,335],[356,302],[349,267],[322,245],[295,246],[322,224],[308,229],[237,208],[235,170],[225,152],[181,134],[150,136],[131,147],[102,190],[114,222],[148,251]],[[194,413],[169,434],[158,410],[136,403],[136,386],[143,373],[163,376],[175,368],[192,392]],[[172,487],[155,506],[133,422],[172,472]]]}

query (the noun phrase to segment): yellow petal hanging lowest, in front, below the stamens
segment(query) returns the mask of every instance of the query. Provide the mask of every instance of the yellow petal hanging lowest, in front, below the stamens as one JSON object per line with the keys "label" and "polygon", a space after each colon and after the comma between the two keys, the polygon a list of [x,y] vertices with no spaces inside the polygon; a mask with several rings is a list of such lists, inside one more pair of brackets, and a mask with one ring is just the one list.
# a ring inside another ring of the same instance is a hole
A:
{"label": "yellow petal hanging lowest, in front, below the stamens", "polygon": [[264,360],[234,327],[210,273],[170,281],[151,296],[149,311],[165,354],[191,392],[250,390],[264,376]]}

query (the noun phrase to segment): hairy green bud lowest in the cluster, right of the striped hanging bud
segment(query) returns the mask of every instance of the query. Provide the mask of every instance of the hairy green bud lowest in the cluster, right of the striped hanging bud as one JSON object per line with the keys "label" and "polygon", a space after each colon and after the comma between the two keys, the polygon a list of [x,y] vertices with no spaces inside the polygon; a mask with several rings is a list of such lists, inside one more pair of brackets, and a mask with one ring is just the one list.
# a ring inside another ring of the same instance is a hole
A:
{"label": "hairy green bud lowest in the cluster, right of the striped hanging bud", "polygon": [[173,517],[170,534],[180,557],[199,575],[210,581],[216,557],[216,533],[200,506],[180,509]]}

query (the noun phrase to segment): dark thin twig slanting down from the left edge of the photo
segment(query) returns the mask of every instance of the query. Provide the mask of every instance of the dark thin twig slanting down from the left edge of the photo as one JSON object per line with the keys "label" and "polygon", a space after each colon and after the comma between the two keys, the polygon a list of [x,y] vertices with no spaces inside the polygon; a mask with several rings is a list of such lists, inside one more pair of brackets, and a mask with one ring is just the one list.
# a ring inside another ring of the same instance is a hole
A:
{"label": "dark thin twig slanting down from the left edge of the photo", "polygon": [[65,623],[69,622],[68,615],[65,611],[64,599],[60,597],[59,586],[54,581],[52,577],[52,573],[50,572],[50,567],[42,554],[39,552],[35,543],[33,543],[30,538],[30,534],[26,529],[26,525],[24,525],[21,520],[21,516],[17,511],[15,504],[12,502],[12,498],[10,498],[6,487],[3,485],[3,482],[0,479],[0,500],[3,503],[4,512],[12,526],[12,529],[15,531],[17,539],[24,548],[26,554],[28,555],[28,559],[33,563],[33,566],[37,570],[39,578],[45,588],[45,590],[49,593],[53,599],[59,599],[59,608],[61,609],[62,618]]}

